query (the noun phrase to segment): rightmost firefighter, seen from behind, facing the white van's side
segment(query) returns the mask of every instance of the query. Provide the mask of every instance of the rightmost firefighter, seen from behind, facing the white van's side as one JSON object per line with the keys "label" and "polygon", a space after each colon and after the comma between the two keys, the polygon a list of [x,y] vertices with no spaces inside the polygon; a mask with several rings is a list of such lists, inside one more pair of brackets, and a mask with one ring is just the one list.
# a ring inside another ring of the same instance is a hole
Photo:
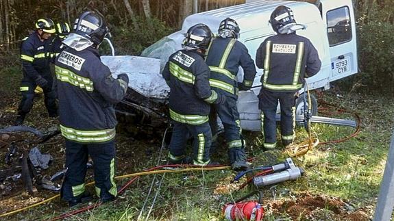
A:
{"label": "rightmost firefighter, seen from behind, facing the white van's side", "polygon": [[256,65],[264,69],[258,97],[266,150],[276,147],[275,114],[278,101],[282,144],[287,146],[295,139],[296,94],[304,85],[304,78],[316,75],[321,67],[317,50],[310,40],[295,34],[305,26],[295,22],[290,8],[278,6],[269,22],[277,35],[264,40],[256,52]]}

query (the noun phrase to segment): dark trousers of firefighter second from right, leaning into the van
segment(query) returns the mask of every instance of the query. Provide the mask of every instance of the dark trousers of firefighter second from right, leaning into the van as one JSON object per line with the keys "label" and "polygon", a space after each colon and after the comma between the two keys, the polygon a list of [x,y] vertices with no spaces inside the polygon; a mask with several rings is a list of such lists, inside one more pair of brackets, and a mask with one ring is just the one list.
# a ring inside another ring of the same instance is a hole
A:
{"label": "dark trousers of firefighter second from right, leaning into the van", "polygon": [[221,96],[225,96],[224,103],[211,105],[209,123],[212,136],[214,140],[217,138],[217,116],[219,116],[223,123],[228,148],[242,148],[244,145],[241,138],[242,129],[236,107],[236,97],[227,96],[223,93]]}

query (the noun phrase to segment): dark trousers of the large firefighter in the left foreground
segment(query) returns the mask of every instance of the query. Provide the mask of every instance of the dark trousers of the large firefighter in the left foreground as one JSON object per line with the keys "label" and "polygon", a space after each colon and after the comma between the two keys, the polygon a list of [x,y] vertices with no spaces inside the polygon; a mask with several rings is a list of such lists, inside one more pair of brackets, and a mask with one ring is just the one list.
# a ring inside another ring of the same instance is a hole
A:
{"label": "dark trousers of the large firefighter in the left foreground", "polygon": [[61,190],[63,200],[71,201],[84,195],[89,155],[93,160],[97,196],[103,201],[116,196],[114,140],[97,144],[79,144],[66,140],[67,172]]}

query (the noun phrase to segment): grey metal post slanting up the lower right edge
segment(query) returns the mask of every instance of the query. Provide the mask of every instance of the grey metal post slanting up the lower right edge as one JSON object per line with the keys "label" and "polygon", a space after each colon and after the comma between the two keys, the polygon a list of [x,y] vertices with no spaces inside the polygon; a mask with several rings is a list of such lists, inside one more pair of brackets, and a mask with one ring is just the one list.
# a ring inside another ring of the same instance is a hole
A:
{"label": "grey metal post slanting up the lower right edge", "polygon": [[376,205],[373,221],[390,220],[394,206],[394,133],[391,135],[391,144],[389,156],[387,157],[386,167],[382,183],[380,185],[380,193],[378,204]]}

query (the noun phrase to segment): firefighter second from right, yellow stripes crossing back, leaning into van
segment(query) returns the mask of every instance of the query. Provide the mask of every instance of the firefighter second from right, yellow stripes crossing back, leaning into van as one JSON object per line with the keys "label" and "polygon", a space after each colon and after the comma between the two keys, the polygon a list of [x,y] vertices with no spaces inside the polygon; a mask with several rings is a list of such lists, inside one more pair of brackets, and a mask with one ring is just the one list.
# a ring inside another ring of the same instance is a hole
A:
{"label": "firefighter second from right, yellow stripes crossing back, leaning into van", "polygon": [[[236,107],[238,90],[249,90],[256,75],[256,66],[245,45],[238,42],[240,28],[232,18],[219,25],[219,36],[212,40],[206,64],[210,67],[210,85],[225,102],[211,106],[210,125],[214,140],[217,138],[217,115],[224,127],[230,164],[234,170],[247,168],[245,140],[241,136],[239,113]],[[238,68],[243,68],[243,82],[237,82]]]}

